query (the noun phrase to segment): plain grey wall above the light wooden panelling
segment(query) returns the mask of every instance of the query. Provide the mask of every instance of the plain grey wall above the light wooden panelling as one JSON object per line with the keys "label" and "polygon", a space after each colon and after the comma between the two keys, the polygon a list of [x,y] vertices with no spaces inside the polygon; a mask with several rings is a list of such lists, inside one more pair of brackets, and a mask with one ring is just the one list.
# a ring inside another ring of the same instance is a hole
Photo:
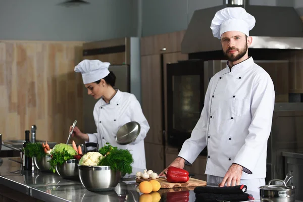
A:
{"label": "plain grey wall above the light wooden panelling", "polygon": [[66,8],[64,0],[0,0],[0,40],[92,41],[138,34],[141,0],[87,0]]}

